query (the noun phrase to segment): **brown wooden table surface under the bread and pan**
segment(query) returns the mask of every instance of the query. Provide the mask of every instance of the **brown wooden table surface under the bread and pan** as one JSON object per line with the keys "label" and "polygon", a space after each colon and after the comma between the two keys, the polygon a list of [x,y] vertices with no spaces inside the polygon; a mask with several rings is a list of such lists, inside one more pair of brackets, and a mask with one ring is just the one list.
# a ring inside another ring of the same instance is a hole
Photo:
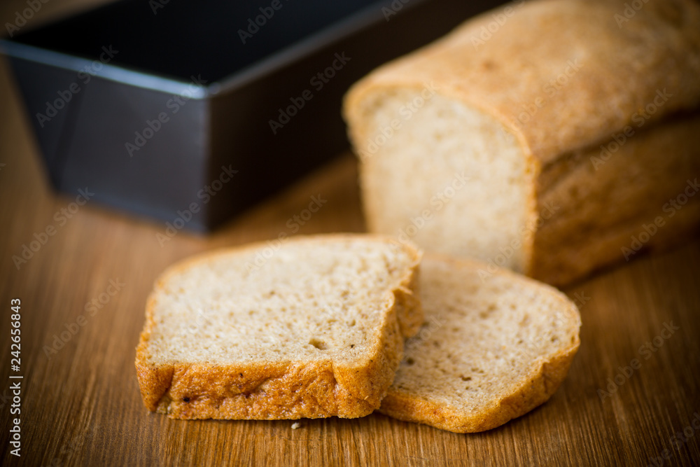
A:
{"label": "brown wooden table surface under the bread and pan", "polygon": [[[3,8],[4,23],[17,8]],[[304,420],[293,430],[291,421],[176,421],[148,412],[134,347],[155,277],[193,253],[287,232],[286,221],[311,195],[328,204],[300,233],[363,231],[356,163],[342,155],[214,235],[180,232],[160,246],[162,223],[90,202],[58,225],[54,215],[71,197],[50,190],[3,61],[0,106],[3,465],[700,464],[697,240],[568,288],[583,321],[568,378],[548,403],[486,433],[460,435],[381,414]],[[12,256],[47,225],[56,225],[56,234],[18,270]],[[17,380],[8,379],[18,374],[10,371],[12,298],[22,301],[21,458],[6,441],[17,417],[10,415],[10,384]],[[55,344],[71,329],[67,342]],[[657,344],[653,352],[640,348],[647,342]],[[638,368],[631,368],[633,359]],[[608,388],[614,391],[601,392]]]}

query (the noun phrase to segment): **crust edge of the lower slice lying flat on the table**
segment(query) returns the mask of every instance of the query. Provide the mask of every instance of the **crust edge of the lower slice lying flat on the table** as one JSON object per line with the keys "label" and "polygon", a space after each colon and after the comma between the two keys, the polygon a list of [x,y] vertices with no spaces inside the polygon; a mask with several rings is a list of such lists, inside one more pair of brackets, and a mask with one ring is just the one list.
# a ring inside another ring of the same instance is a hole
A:
{"label": "crust edge of the lower slice lying flat on the table", "polygon": [[[486,265],[477,260],[458,260],[449,256],[430,254],[426,260],[442,261],[455,267],[469,267],[472,270],[485,270]],[[576,306],[563,293],[547,284],[540,284],[511,272],[499,270],[499,277],[533,284],[541,291],[554,295],[561,304],[561,310],[568,314],[568,319],[580,326],[580,314]],[[475,433],[486,431],[505,424],[507,421],[521,417],[535,407],[542,405],[554,394],[566,378],[573,358],[580,347],[578,332],[572,336],[570,345],[556,354],[542,356],[535,361],[528,376],[519,380],[512,391],[500,399],[494,399],[486,410],[459,410],[426,400],[406,389],[391,386],[386,397],[381,401],[379,412],[395,419],[426,424],[455,433]],[[510,377],[510,375],[507,375]]]}

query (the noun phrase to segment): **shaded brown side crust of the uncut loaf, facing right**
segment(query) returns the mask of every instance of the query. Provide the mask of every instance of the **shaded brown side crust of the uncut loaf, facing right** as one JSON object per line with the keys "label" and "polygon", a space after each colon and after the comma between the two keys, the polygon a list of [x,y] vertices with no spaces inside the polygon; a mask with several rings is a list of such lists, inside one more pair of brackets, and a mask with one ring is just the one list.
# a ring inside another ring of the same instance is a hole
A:
{"label": "shaded brown side crust of the uncut loaf, facing right", "polygon": [[[636,258],[636,249],[663,249],[698,231],[700,193],[693,185],[700,176],[700,113],[634,131],[619,148],[610,146],[614,152],[571,153],[542,172],[538,212],[549,206],[556,213],[542,218],[528,275],[570,284]],[[679,195],[687,202],[675,209],[670,201]],[[640,235],[647,241],[633,244]]]}

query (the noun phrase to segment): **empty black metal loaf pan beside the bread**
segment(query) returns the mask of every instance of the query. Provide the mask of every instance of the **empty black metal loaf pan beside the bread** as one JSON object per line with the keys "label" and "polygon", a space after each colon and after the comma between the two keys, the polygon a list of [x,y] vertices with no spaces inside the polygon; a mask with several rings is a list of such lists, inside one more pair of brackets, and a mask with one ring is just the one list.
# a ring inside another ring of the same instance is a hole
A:
{"label": "empty black metal loaf pan beside the bread", "polygon": [[57,190],[207,231],[348,147],[354,81],[498,3],[123,0],[0,50]]}

